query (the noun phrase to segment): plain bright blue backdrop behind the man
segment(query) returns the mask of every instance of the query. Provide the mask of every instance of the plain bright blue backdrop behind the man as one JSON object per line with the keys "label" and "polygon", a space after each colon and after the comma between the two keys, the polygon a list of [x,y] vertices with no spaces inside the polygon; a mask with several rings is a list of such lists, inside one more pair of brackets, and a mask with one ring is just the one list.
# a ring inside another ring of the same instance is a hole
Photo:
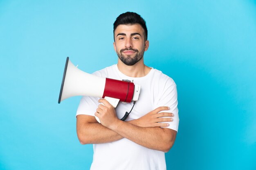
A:
{"label": "plain bright blue backdrop behind the man", "polygon": [[172,77],[180,126],[168,170],[256,170],[256,1],[0,0],[0,169],[88,170],[80,97],[58,104],[65,59],[117,63],[112,24],[147,22],[146,65]]}

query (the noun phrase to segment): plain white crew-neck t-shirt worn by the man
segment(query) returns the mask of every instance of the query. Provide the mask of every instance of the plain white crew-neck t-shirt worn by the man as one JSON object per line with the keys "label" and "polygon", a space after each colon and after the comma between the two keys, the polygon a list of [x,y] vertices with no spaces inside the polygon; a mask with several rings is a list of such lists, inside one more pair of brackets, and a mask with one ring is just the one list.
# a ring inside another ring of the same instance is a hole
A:
{"label": "plain white crew-neck t-shirt worn by the man", "polygon": [[[141,85],[139,100],[135,103],[132,112],[126,121],[138,119],[146,113],[160,106],[168,106],[174,114],[173,122],[167,127],[178,131],[179,116],[176,84],[172,78],[161,71],[152,68],[144,77],[129,77],[121,73],[117,65],[94,72],[100,77],[117,80],[130,80]],[[76,115],[85,114],[94,116],[99,105],[99,98],[83,96]],[[121,119],[126,111],[130,111],[133,102],[116,107],[117,117]],[[91,170],[166,170],[164,152],[140,146],[129,139],[123,138],[106,144],[94,144],[94,155]]]}

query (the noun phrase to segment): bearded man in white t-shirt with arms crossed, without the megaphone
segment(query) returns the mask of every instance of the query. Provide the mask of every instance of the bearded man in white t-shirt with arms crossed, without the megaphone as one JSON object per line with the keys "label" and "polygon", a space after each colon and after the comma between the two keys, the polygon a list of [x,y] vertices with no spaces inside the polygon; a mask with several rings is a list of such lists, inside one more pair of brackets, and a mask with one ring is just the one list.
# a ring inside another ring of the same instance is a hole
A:
{"label": "bearded man in white t-shirt with arms crossed, without the megaphone", "polygon": [[77,135],[81,144],[94,144],[91,170],[166,169],[164,153],[173,146],[179,123],[177,90],[170,77],[144,65],[147,36],[146,22],[140,15],[119,15],[113,43],[118,62],[94,73],[141,85],[139,100],[126,121],[119,119],[130,111],[132,103],[119,102],[115,109],[105,99],[81,99]]}

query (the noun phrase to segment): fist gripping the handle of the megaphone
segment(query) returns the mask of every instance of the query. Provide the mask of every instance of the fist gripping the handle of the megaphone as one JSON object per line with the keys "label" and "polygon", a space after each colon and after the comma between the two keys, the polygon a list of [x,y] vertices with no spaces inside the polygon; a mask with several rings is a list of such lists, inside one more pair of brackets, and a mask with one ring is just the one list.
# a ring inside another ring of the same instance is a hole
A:
{"label": "fist gripping the handle of the megaphone", "polygon": [[119,120],[115,108],[106,99],[99,99],[98,102],[103,103],[103,105],[98,106],[94,115],[99,118],[103,126],[115,125],[115,122]]}

